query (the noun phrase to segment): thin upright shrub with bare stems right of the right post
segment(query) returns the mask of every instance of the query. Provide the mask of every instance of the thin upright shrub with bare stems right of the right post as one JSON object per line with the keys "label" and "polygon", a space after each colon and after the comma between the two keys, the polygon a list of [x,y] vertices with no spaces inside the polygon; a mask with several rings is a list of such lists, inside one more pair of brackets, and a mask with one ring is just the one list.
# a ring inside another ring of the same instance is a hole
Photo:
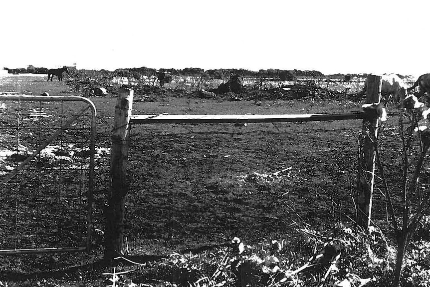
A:
{"label": "thin upright shrub with bare stems right of the right post", "polygon": [[[393,286],[399,286],[402,281],[402,273],[408,274],[411,266],[409,246],[413,244],[414,233],[422,220],[425,220],[425,210],[429,207],[430,192],[422,190],[423,183],[419,182],[419,177],[424,170],[427,151],[430,147],[430,131],[426,125],[430,110],[419,102],[417,97],[408,96],[404,102],[404,112],[399,116],[399,141],[402,149],[400,157],[399,178],[401,187],[389,187],[386,181],[383,159],[380,157],[379,139],[374,141],[376,163],[379,168],[379,178],[382,180],[383,195],[387,201],[387,216],[394,230],[396,240],[396,260],[393,270]],[[381,138],[381,137],[379,137]],[[393,202],[397,199],[399,205]],[[398,207],[400,206],[400,207]],[[397,209],[397,210],[396,210]],[[403,214],[398,220],[398,214]],[[417,264],[418,269],[423,267]],[[426,265],[428,267],[428,265]],[[415,267],[417,268],[417,267]],[[418,270],[419,271],[419,270]],[[422,273],[424,277],[427,275]],[[404,284],[413,281],[409,275],[403,276]]]}

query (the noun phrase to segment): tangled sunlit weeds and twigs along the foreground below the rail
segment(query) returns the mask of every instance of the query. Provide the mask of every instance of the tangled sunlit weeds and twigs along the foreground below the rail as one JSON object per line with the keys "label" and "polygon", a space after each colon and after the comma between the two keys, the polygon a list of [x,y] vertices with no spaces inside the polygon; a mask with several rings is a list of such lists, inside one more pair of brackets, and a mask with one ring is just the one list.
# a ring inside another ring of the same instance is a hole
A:
{"label": "tangled sunlit weeds and twigs along the foreground below the rail", "polygon": [[[356,233],[338,224],[331,232],[295,228],[295,235],[285,239],[248,245],[234,238],[198,254],[171,254],[144,264],[127,279],[179,286],[385,286],[394,261],[395,248],[380,229]],[[408,267],[416,272],[414,284],[424,286],[420,280],[426,273],[418,272],[413,261]]]}

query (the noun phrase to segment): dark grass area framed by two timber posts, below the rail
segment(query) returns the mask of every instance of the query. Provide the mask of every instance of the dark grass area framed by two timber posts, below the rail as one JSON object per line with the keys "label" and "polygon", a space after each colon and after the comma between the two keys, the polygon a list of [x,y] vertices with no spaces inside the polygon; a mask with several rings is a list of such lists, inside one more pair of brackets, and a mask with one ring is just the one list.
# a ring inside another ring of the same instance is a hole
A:
{"label": "dark grass area framed by two timber posts, below the rail", "polygon": [[133,124],[124,250],[281,238],[353,216],[361,121]]}

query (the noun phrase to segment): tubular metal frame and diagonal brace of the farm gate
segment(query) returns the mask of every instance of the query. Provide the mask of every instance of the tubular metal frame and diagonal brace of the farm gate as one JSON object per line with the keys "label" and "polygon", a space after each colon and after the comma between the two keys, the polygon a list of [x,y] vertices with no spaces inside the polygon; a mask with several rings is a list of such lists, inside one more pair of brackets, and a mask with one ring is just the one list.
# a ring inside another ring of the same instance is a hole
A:
{"label": "tubular metal frame and diagonal brace of the farm gate", "polygon": [[93,208],[93,191],[94,191],[94,165],[95,165],[95,137],[96,137],[96,117],[97,110],[94,103],[81,96],[33,96],[33,95],[0,95],[0,101],[41,101],[41,102],[61,102],[61,101],[81,101],[87,105],[81,108],[73,115],[60,129],[56,130],[44,143],[42,143],[30,156],[28,156],[19,166],[11,171],[0,185],[8,182],[19,170],[28,164],[38,153],[40,153],[49,143],[60,135],[72,122],[84,114],[87,109],[91,110],[91,135],[90,135],[90,164],[88,174],[88,192],[87,192],[87,238],[85,247],[59,247],[59,248],[33,248],[33,249],[9,249],[0,250],[1,255],[9,254],[30,254],[30,253],[59,253],[59,252],[76,252],[91,250],[91,229],[92,229],[92,208]]}

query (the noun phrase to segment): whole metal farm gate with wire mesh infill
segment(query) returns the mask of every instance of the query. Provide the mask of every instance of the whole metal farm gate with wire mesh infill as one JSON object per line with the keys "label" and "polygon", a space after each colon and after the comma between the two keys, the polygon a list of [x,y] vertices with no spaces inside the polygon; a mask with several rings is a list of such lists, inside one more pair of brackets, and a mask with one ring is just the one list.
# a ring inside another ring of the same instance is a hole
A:
{"label": "whole metal farm gate with wire mesh infill", "polygon": [[0,96],[0,255],[89,250],[96,109]]}

